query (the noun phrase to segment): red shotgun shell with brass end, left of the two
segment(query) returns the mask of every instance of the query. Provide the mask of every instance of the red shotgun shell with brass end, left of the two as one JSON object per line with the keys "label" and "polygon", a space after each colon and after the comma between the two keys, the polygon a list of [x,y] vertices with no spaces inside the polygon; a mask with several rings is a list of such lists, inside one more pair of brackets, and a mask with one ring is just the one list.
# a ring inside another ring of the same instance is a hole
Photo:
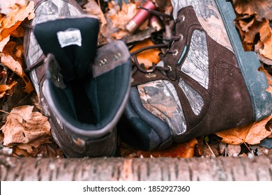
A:
{"label": "red shotgun shell with brass end, left of the two", "polygon": [[[152,1],[146,1],[143,7],[150,10],[156,9],[156,6]],[[139,28],[139,26],[141,26],[144,21],[149,18],[150,15],[151,14],[149,13],[149,11],[139,9],[135,16],[133,16],[130,22],[128,22],[128,24],[126,25],[126,29],[130,31],[130,33],[134,33]]]}

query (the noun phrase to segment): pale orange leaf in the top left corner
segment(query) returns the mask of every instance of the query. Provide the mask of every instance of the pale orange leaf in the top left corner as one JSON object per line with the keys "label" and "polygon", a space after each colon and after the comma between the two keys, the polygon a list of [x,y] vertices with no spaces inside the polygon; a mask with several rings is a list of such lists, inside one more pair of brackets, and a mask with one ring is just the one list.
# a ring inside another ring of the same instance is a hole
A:
{"label": "pale orange leaf in the top left corner", "polygon": [[0,41],[10,36],[17,27],[28,18],[31,20],[34,17],[34,2],[33,1],[10,1],[11,6],[7,10],[6,15],[0,17]]}

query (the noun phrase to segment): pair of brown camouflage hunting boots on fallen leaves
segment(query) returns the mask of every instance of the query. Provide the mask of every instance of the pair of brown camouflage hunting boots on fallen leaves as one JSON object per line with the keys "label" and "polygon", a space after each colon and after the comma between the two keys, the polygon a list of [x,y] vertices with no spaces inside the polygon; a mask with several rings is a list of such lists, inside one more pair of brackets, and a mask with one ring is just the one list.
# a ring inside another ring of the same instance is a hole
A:
{"label": "pair of brown camouflage hunting boots on fallen leaves", "polygon": [[146,70],[121,40],[97,45],[99,22],[72,0],[36,1],[27,72],[67,157],[113,156],[117,132],[142,150],[239,127],[271,114],[254,52],[243,52],[225,0],[172,0],[174,31]]}

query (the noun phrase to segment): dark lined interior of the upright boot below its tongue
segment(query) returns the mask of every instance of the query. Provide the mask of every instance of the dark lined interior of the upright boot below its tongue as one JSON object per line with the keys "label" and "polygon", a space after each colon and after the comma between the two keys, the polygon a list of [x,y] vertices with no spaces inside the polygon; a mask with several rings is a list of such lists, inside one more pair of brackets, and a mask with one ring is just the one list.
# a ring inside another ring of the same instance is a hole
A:
{"label": "dark lined interior of the upright boot below its tongue", "polygon": [[66,88],[63,89],[49,80],[48,91],[53,106],[64,120],[61,122],[70,123],[82,130],[105,127],[121,109],[128,93],[129,70],[130,65],[124,63],[96,78],[90,75],[83,80],[66,82]]}

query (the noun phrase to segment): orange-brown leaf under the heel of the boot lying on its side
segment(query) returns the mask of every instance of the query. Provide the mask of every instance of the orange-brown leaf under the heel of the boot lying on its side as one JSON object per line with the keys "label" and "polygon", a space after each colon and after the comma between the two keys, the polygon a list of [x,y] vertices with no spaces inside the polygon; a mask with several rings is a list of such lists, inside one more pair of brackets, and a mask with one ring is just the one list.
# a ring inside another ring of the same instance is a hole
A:
{"label": "orange-brown leaf under the heel of the boot lying on its side", "polygon": [[255,145],[268,137],[271,132],[266,130],[266,123],[272,115],[255,123],[250,123],[244,127],[236,127],[230,130],[217,132],[216,135],[222,138],[222,142],[231,144],[248,143]]}

